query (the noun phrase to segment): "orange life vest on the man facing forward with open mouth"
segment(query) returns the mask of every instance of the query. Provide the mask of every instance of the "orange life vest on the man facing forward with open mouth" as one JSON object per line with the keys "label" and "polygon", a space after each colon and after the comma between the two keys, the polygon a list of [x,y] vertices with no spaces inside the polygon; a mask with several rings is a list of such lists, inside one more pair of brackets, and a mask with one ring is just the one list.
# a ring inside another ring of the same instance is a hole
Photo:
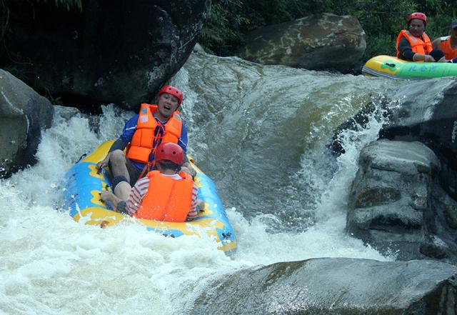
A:
{"label": "orange life vest on the man facing forward with open mouth", "polygon": [[[159,136],[159,133],[154,136],[156,126],[161,126],[153,116],[156,111],[156,104],[141,104],[136,130],[126,154],[132,161],[148,163],[149,154],[151,154],[151,151],[155,151],[162,141],[177,144],[179,138],[181,138],[182,121],[179,111],[175,111],[170,119],[166,121],[164,136]],[[154,140],[159,140],[156,141],[156,147],[153,147]]]}

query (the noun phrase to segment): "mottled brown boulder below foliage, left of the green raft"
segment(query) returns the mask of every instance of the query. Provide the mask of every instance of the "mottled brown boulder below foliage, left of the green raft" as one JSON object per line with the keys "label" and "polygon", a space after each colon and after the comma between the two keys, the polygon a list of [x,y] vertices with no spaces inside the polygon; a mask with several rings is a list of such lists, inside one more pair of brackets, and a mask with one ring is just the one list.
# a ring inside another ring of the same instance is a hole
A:
{"label": "mottled brown boulder below foliage, left of the green raft", "polygon": [[241,58],[258,64],[351,71],[366,49],[365,32],[355,16],[319,14],[270,25],[246,35]]}

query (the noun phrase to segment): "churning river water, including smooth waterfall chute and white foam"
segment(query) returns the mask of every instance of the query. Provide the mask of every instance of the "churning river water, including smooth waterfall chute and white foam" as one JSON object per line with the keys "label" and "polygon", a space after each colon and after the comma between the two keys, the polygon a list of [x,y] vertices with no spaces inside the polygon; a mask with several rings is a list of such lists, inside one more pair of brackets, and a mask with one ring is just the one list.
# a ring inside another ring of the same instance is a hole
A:
{"label": "churning river water, including smooth waterfall chute and white foam", "polygon": [[37,164],[0,181],[0,314],[186,314],[211,279],[313,257],[395,259],[345,233],[358,153],[382,121],[333,131],[401,83],[260,66],[193,54],[172,84],[184,91],[189,153],[215,182],[236,231],[226,256],[210,239],[167,239],[130,224],[100,229],[62,209],[65,172],[119,136],[133,112],[56,107]]}

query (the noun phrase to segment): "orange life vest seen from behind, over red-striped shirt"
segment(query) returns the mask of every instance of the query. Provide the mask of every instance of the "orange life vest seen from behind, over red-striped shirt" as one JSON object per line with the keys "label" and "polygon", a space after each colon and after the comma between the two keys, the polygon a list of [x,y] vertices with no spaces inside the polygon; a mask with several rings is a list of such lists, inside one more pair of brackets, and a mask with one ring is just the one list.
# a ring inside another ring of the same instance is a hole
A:
{"label": "orange life vest seen from behind, over red-striped shirt", "polygon": [[192,206],[194,181],[191,176],[181,172],[183,179],[171,179],[150,171],[148,191],[144,195],[138,211],[134,214],[139,219],[167,222],[184,222]]}

